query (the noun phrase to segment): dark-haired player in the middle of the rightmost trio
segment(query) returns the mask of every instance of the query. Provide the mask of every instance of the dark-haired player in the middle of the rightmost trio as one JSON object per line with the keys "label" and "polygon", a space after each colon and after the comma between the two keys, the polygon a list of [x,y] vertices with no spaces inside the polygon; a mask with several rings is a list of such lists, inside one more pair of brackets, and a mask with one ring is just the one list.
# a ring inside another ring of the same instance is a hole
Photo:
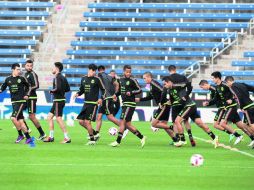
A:
{"label": "dark-haired player in the middle of the rightmost trio", "polygon": [[[211,74],[213,82],[216,84],[216,93],[220,97],[222,105],[225,106],[225,112],[222,116],[220,125],[223,128],[227,127],[227,122],[231,121],[236,124],[236,126],[242,131],[246,131],[246,125],[242,123],[239,114],[237,113],[237,103],[234,100],[233,94],[230,91],[229,87],[222,82],[221,73],[219,71],[215,71]],[[235,140],[235,145],[241,142],[243,136],[237,137]]]}

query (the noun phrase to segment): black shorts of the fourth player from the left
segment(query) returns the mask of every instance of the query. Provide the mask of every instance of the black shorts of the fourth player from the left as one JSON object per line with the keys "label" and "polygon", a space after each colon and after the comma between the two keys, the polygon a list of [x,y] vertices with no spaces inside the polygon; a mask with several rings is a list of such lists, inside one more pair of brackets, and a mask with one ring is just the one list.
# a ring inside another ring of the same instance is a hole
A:
{"label": "black shorts of the fourth player from the left", "polygon": [[79,113],[78,120],[95,121],[97,113],[97,104],[84,104],[81,112]]}

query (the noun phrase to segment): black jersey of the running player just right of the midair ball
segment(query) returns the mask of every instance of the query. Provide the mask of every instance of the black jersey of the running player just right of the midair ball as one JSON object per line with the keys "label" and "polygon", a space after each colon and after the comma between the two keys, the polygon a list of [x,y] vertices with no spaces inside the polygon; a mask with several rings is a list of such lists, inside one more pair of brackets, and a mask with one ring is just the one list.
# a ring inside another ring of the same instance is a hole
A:
{"label": "black jersey of the running player just right of the midair ball", "polygon": [[[122,97],[123,105],[125,106],[136,106],[135,95],[142,92],[138,82],[134,78],[121,77],[119,79],[120,88],[119,93]],[[130,96],[127,96],[126,93],[130,92]]]}

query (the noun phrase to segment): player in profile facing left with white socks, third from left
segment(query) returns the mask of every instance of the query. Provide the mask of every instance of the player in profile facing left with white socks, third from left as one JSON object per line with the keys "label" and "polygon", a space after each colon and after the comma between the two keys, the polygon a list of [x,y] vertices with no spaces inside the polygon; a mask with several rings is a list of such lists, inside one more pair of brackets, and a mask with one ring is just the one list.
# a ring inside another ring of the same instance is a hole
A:
{"label": "player in profile facing left with white socks, third from left", "polygon": [[53,80],[53,89],[50,93],[53,95],[53,106],[48,114],[49,123],[49,137],[45,138],[44,142],[54,142],[54,116],[56,121],[60,126],[63,134],[64,140],[61,143],[71,143],[71,139],[68,136],[68,131],[66,129],[65,123],[62,119],[63,109],[65,107],[65,93],[70,91],[70,86],[67,79],[61,74],[63,70],[63,64],[60,62],[55,62],[52,69],[52,74],[55,75]]}

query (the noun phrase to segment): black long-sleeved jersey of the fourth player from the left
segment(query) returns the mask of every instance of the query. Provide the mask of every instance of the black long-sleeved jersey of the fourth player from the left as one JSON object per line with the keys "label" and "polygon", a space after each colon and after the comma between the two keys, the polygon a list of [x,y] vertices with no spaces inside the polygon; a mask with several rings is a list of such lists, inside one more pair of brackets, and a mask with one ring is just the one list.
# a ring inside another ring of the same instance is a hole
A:
{"label": "black long-sleeved jersey of the fourth player from the left", "polygon": [[85,103],[97,104],[99,99],[99,92],[101,90],[101,99],[106,96],[105,87],[99,77],[88,77],[87,75],[81,78],[81,86],[77,94],[81,96],[84,94]]}

